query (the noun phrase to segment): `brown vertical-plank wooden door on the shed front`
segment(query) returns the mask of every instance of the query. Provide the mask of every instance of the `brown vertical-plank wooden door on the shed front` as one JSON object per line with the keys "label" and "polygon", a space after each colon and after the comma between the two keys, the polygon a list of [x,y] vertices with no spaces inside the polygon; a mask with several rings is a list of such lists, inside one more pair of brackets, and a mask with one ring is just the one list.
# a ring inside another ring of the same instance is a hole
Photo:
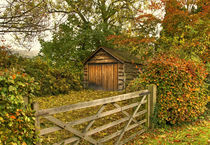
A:
{"label": "brown vertical-plank wooden door on the shed front", "polygon": [[88,86],[94,89],[118,89],[117,64],[89,64]]}

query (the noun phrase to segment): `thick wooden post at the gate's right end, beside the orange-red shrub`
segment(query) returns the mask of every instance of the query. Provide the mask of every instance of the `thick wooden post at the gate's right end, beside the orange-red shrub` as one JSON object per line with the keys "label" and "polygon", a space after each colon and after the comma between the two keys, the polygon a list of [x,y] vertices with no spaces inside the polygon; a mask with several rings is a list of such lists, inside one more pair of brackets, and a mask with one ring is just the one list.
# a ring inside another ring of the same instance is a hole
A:
{"label": "thick wooden post at the gate's right end, beside the orange-red shrub", "polygon": [[151,117],[154,115],[156,99],[157,99],[157,86],[152,84],[148,87],[150,95],[148,95],[148,127],[154,128],[154,124],[151,122]]}

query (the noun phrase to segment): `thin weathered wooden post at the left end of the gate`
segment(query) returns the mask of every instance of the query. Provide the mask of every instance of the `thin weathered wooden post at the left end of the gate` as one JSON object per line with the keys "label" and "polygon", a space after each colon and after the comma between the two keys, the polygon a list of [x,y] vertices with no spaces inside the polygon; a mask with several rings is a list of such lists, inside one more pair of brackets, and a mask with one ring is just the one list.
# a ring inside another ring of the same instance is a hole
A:
{"label": "thin weathered wooden post at the left end of the gate", "polygon": [[[35,131],[39,136],[40,118],[37,116],[37,112],[39,111],[39,104],[37,102],[33,102],[33,110],[35,110]],[[41,143],[37,142],[36,145],[41,145]]]}

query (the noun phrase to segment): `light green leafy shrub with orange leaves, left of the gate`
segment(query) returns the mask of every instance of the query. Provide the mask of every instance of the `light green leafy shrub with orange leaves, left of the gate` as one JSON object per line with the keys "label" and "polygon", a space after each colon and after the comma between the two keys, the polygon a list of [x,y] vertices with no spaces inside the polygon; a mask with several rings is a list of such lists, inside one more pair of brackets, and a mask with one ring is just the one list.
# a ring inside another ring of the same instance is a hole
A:
{"label": "light green leafy shrub with orange leaves, left of the gate", "polygon": [[23,97],[32,98],[36,89],[28,75],[0,70],[0,144],[36,142],[34,111],[23,101]]}

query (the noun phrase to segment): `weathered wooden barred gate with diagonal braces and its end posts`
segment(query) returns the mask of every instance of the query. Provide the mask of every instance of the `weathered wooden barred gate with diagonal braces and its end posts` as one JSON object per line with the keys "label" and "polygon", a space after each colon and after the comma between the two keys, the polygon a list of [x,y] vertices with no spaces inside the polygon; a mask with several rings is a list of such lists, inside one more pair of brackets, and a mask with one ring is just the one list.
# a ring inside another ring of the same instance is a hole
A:
{"label": "weathered wooden barred gate with diagonal braces and its end posts", "polygon": [[[104,144],[111,140],[114,140],[114,143],[112,142],[111,144],[125,144],[132,140],[136,135],[143,133],[148,127],[152,126],[150,123],[150,116],[154,111],[155,102],[156,86],[153,85],[150,86],[148,90],[43,110],[39,110],[38,104],[35,103],[34,109],[36,110],[36,130],[40,132],[40,136],[59,130],[66,130],[73,134],[72,137],[62,140],[58,143],[54,143],[54,145],[79,144],[82,140],[87,144],[95,145]],[[106,110],[106,106],[110,104],[114,108]],[[53,116],[57,113],[87,109],[94,106],[100,106],[96,114],[70,122],[64,122],[61,119]],[[129,109],[131,111],[128,111]],[[119,119],[110,123],[101,124],[100,126],[91,128],[94,123],[100,121],[101,118],[105,118],[107,116],[111,118],[111,115],[116,115],[116,113],[119,112],[121,112],[124,116],[120,116]],[[41,129],[40,118],[47,119],[55,126]],[[82,123],[86,123],[82,130],[74,127]],[[109,133],[102,138],[93,137],[95,134],[117,125],[120,125],[121,128],[117,128],[117,130],[113,133]],[[129,137],[127,135],[125,136],[125,134],[132,129],[138,130],[136,132],[132,132],[132,135]]]}

